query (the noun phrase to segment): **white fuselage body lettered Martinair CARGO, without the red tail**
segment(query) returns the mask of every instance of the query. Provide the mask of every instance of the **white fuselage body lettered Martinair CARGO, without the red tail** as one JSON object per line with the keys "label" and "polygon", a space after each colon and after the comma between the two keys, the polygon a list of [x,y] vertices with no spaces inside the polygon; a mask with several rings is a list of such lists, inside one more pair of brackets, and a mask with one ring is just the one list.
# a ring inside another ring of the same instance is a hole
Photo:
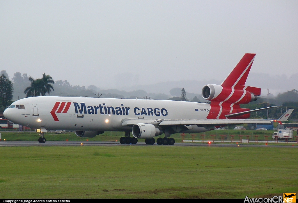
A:
{"label": "white fuselage body lettered Martinair CARGO, without the red tail", "polygon": [[210,104],[187,101],[38,96],[13,102],[4,116],[38,129],[127,131],[123,119],[207,119],[209,111]]}

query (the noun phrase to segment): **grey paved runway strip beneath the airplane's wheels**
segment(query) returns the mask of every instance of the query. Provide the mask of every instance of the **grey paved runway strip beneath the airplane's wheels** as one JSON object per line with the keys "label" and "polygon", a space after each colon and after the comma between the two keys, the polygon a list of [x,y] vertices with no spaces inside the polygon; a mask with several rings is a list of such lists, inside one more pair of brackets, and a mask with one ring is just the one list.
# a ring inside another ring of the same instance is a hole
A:
{"label": "grey paved runway strip beneath the airplane's wheels", "polygon": [[[159,146],[156,143],[155,146]],[[295,144],[297,145],[297,144]],[[150,146],[145,142],[137,144],[120,144],[119,142],[98,142],[98,141],[46,141],[39,143],[38,141],[0,141],[0,146]],[[169,145],[171,146],[171,145]],[[248,144],[203,144],[203,143],[175,143],[173,146],[213,146],[213,147],[291,147],[298,146],[283,146],[283,145],[248,145]],[[172,146],[172,147],[173,147]]]}

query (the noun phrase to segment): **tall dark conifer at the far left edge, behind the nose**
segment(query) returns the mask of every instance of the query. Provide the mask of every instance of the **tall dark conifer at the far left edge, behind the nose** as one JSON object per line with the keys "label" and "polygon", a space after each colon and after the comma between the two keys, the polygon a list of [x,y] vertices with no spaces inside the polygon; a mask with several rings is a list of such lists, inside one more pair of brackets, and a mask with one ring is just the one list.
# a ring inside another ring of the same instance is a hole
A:
{"label": "tall dark conifer at the far left edge, behind the nose", "polygon": [[2,73],[0,76],[0,108],[3,112],[13,103],[13,83]]}

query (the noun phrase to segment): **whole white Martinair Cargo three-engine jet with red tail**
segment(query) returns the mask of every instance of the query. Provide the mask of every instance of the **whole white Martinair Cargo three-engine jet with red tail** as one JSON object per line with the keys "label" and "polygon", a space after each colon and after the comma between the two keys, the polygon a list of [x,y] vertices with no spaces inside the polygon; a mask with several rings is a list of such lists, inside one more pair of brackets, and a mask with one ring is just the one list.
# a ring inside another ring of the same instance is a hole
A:
{"label": "whole white Martinair Cargo three-engine jet with red tail", "polygon": [[[235,124],[270,123],[253,120],[249,110],[240,104],[256,101],[261,89],[245,82],[256,54],[245,54],[221,85],[205,85],[207,103],[144,99],[111,99],[87,97],[38,96],[13,102],[4,111],[5,118],[30,128],[74,130],[79,137],[92,138],[104,131],[122,131],[122,144],[136,144],[145,138],[147,144],[173,145],[174,133],[198,133]],[[133,137],[130,136],[132,132]],[[39,142],[45,142],[41,133]]]}

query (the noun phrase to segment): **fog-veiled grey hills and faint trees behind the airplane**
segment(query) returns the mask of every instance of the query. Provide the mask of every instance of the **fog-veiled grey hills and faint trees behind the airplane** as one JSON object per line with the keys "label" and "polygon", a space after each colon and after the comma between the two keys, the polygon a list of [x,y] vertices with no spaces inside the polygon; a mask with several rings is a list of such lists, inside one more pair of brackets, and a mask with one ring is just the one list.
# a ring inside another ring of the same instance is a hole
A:
{"label": "fog-veiled grey hills and faint trees behind the airplane", "polygon": [[[6,71],[1,71],[7,77]],[[25,98],[24,89],[30,86],[27,74],[16,72],[13,77],[9,77],[14,85],[13,100]],[[126,75],[126,82],[122,83],[118,77],[118,84],[113,88],[102,88],[97,84],[89,85],[88,87],[71,85],[67,80],[58,80],[53,85],[55,91],[50,93],[51,96],[88,96],[97,97],[95,94],[102,94],[105,98],[130,98],[139,99],[162,99],[166,100],[170,97],[180,97],[181,89],[184,88],[187,93],[187,98],[191,101],[194,96],[197,96],[200,102],[206,102],[201,96],[201,90],[204,85],[218,84],[224,80],[180,80],[158,82],[151,85],[141,85],[137,75]],[[131,83],[127,80],[132,80]],[[54,78],[55,80],[55,78]],[[131,85],[129,85],[131,84]],[[265,73],[250,73],[246,85],[254,86],[262,89],[262,96],[267,96],[267,88],[271,93],[269,96],[277,96],[278,93],[283,93],[287,90],[298,89],[298,73],[291,75],[289,78],[285,74],[272,76]]]}

